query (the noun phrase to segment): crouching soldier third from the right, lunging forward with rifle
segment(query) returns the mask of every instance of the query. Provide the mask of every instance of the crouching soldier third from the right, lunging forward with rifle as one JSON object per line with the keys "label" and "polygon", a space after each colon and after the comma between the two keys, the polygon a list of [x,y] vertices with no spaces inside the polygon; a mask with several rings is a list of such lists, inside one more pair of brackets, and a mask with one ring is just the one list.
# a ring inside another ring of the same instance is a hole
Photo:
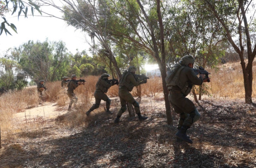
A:
{"label": "crouching soldier third from the right, lunging forward with rifle", "polygon": [[111,100],[108,98],[108,96],[105,93],[108,92],[108,89],[111,86],[118,84],[118,82],[111,81],[110,83],[108,83],[107,81],[109,76],[110,76],[109,74],[104,73],[99,78],[96,84],[96,90],[94,92],[95,104],[93,104],[93,106],[91,106],[91,108],[86,112],[87,116],[90,115],[90,112],[92,112],[96,108],[99,108],[101,100],[106,101],[106,113],[111,114],[111,112],[109,111]]}

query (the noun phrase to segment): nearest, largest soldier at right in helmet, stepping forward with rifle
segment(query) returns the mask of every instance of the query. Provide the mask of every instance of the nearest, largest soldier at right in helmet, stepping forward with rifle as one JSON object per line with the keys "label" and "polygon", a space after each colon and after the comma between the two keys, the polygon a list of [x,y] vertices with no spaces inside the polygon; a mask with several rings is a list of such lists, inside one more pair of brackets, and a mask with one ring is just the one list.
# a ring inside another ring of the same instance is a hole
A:
{"label": "nearest, largest soldier at right in helmet, stepping forward with rifle", "polygon": [[190,144],[193,142],[186,135],[186,131],[200,118],[200,114],[194,103],[186,96],[190,93],[193,85],[202,85],[209,79],[203,74],[199,74],[197,77],[192,70],[194,62],[194,58],[190,55],[182,57],[165,78],[169,90],[169,101],[174,111],[180,114],[177,125],[178,132],[175,136]]}

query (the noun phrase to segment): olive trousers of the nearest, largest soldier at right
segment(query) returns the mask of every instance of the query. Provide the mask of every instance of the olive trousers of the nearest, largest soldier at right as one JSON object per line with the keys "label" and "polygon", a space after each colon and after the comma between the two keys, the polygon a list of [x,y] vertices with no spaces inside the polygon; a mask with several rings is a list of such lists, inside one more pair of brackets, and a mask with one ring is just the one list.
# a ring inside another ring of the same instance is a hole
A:
{"label": "olive trousers of the nearest, largest soldier at right", "polygon": [[190,127],[195,121],[200,118],[200,114],[195,108],[194,103],[186,98],[182,93],[170,94],[169,101],[174,108],[174,111],[180,114],[177,128],[179,129],[182,125]]}

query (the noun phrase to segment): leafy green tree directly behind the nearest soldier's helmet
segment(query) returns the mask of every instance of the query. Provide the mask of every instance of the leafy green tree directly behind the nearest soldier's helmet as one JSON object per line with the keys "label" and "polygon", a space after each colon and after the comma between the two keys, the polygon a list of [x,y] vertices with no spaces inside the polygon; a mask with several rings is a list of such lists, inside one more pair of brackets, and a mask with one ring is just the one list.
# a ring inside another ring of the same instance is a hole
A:
{"label": "leafy green tree directly behind the nearest soldier's helmet", "polygon": [[[190,54],[196,59],[195,66],[215,67],[219,58],[224,56],[220,44],[226,41],[220,31],[220,23],[209,11],[184,2],[173,4],[168,13],[165,34],[171,56],[168,58],[169,65],[174,65],[182,56]],[[199,100],[202,93],[207,93],[206,88],[205,83],[199,86]],[[195,92],[192,92],[197,101]]]}

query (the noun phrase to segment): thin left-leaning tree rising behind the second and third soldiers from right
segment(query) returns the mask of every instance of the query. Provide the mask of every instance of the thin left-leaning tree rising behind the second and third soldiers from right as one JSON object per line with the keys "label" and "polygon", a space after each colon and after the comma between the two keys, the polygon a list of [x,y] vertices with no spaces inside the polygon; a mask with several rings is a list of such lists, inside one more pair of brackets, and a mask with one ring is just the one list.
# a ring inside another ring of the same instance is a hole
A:
{"label": "thin left-leaning tree rising behind the second and third soldiers from right", "polygon": [[[106,33],[106,21],[110,16],[108,6],[105,0],[40,0],[42,5],[53,6],[63,12],[63,19],[68,25],[81,29],[91,37],[91,47],[98,54],[104,54],[112,64],[118,78],[121,72],[112,52],[112,43],[109,34]],[[96,40],[95,40],[96,39]]]}

